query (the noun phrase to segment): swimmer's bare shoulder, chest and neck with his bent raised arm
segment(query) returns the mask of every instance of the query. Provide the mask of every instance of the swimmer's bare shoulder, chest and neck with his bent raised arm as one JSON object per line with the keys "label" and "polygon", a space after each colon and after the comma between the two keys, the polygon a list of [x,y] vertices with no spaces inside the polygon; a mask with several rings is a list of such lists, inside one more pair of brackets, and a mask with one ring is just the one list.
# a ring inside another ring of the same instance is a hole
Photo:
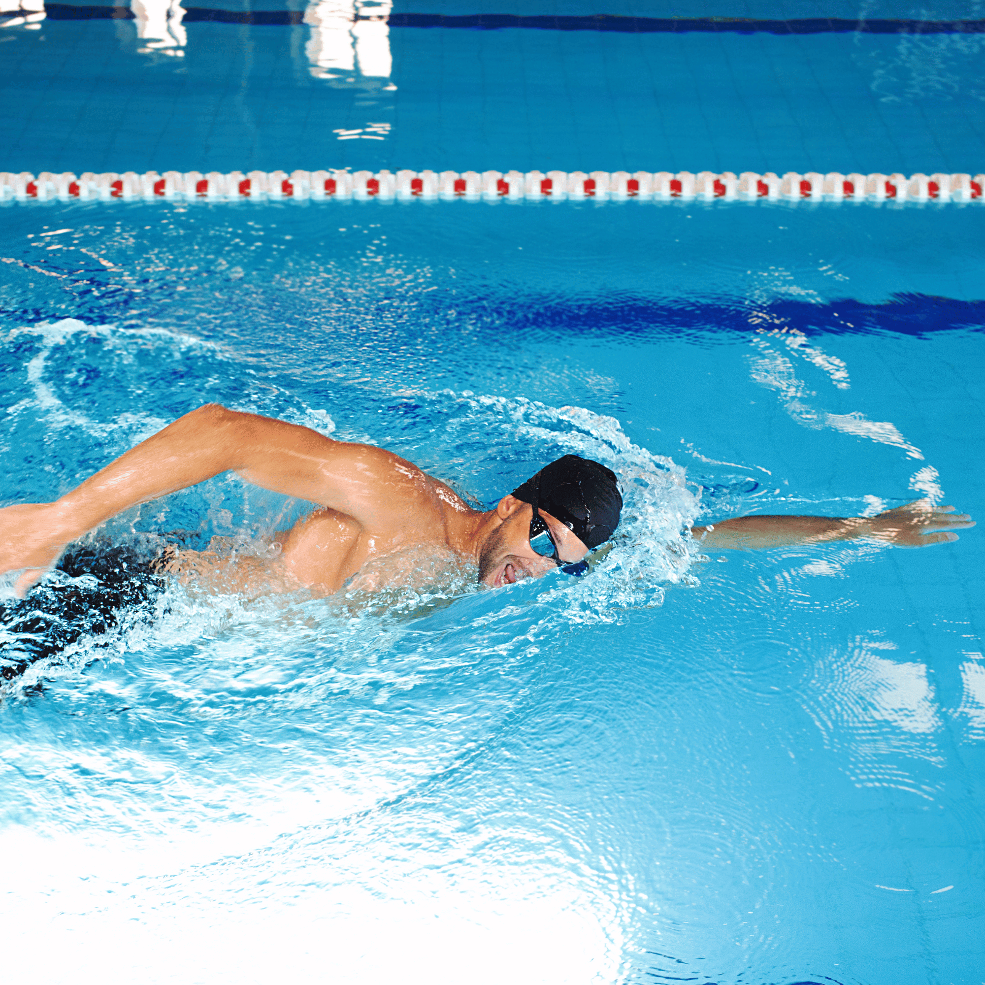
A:
{"label": "swimmer's bare shoulder, chest and neck with his bent raised arm", "polygon": [[25,569],[15,586],[23,596],[67,544],[111,516],[227,471],[319,506],[278,537],[285,588],[333,592],[368,560],[411,547],[477,558],[490,525],[488,513],[389,451],[211,404],[55,502],[0,510],[0,572]]}

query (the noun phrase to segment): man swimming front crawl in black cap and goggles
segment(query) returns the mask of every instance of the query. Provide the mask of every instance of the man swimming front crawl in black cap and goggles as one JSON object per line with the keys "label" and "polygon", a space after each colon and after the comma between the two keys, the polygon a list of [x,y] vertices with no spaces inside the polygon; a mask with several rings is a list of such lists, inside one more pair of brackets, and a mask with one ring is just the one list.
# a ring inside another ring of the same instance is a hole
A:
{"label": "man swimming front crawl in black cap and goggles", "polygon": [[[223,472],[316,503],[275,537],[264,567],[269,586],[337,592],[354,575],[415,549],[474,562],[490,587],[560,567],[583,573],[585,558],[619,524],[623,498],[605,466],[565,455],[495,507],[470,507],[444,483],[373,445],[347,443],[307,427],[208,404],[179,418],[50,503],[0,509],[0,573],[19,571],[23,598],[66,546],[137,503],[187,489]],[[952,506],[926,500],[875,517],[745,516],[694,527],[702,550],[750,550],[874,538],[903,547],[956,540],[973,526]],[[174,552],[164,569],[195,577],[215,555]],[[242,560],[246,560],[243,558]]]}

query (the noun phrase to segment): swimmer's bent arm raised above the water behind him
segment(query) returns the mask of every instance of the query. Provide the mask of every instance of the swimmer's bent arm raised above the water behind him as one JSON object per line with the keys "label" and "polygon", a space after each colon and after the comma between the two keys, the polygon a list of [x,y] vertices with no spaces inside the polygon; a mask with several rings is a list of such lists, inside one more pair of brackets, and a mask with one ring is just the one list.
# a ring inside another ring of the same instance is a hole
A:
{"label": "swimmer's bent arm raised above the water behind him", "polygon": [[55,502],[0,509],[0,573],[26,569],[16,585],[23,595],[65,545],[111,516],[229,470],[361,523],[392,521],[423,477],[381,448],[333,441],[308,427],[208,404]]}

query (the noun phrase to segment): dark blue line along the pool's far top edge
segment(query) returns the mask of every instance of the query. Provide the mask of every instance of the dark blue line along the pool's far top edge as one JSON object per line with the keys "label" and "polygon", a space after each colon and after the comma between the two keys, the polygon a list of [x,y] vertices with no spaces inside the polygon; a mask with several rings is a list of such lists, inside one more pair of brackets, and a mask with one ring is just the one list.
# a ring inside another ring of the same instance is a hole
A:
{"label": "dark blue line along the pool's far top edge", "polygon": [[[134,20],[129,7],[95,7],[49,3],[44,10],[49,21]],[[13,15],[23,12],[13,11]],[[372,20],[372,18],[358,18]],[[731,34],[983,34],[985,20],[850,21],[841,18],[799,18],[792,21],[755,21],[727,17],[522,17],[514,14],[470,14],[446,17],[443,14],[391,14],[386,18],[391,28],[464,28],[472,31],[500,31],[504,28],[528,28],[537,31],[600,31],[626,34],[731,33]],[[190,7],[185,24],[253,24],[274,27],[303,24],[304,12],[297,10],[211,10]]]}

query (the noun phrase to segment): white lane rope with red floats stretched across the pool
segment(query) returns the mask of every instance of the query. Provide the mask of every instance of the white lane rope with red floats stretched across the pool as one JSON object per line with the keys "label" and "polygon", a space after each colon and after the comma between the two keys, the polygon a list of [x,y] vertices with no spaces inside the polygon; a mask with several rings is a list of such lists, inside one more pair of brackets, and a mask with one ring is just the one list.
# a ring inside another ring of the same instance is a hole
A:
{"label": "white lane rope with red floats stretched across the pool", "polygon": [[975,202],[985,174],[772,171],[0,171],[0,201],[287,199],[413,201]]}

